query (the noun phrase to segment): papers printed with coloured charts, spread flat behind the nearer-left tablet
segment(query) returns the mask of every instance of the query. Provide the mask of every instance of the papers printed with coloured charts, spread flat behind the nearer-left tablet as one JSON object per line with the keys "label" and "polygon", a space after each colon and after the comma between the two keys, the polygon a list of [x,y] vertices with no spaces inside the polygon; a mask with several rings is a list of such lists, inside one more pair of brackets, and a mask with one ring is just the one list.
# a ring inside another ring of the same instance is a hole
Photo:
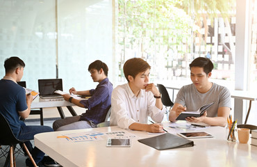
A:
{"label": "papers printed with coloured charts, spread flat behind the nearer-left tablet", "polygon": [[105,138],[134,138],[134,134],[128,132],[119,131],[119,132],[78,132],[71,134],[63,134],[57,136],[60,141],[63,142],[83,142],[83,141],[101,141]]}

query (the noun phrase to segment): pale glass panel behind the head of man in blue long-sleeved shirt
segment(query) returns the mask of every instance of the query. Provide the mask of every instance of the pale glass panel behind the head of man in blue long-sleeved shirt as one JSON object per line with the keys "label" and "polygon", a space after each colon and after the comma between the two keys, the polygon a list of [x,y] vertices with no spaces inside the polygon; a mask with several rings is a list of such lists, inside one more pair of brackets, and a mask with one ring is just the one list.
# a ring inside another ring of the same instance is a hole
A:
{"label": "pale glass panel behind the head of man in blue long-sleeved shirt", "polygon": [[95,88],[88,65],[97,59],[109,67],[112,81],[112,1],[58,1],[58,71],[64,90]]}

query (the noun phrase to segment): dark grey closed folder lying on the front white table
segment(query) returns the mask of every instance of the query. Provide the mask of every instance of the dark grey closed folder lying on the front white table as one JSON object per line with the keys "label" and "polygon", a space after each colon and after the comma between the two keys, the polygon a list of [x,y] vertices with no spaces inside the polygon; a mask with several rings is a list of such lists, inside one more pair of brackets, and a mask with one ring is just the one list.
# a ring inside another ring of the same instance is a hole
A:
{"label": "dark grey closed folder lying on the front white table", "polygon": [[190,141],[186,138],[169,133],[161,134],[151,138],[140,139],[138,141],[150,146],[151,148],[155,148],[156,150],[167,150],[194,146],[194,141]]}

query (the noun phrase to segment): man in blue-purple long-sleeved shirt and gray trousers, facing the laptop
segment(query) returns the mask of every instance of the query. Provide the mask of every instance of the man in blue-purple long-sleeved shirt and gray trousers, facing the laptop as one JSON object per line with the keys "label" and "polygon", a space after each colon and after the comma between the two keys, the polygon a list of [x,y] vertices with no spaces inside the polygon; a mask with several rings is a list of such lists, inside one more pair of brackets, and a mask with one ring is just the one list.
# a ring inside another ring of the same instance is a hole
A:
{"label": "man in blue-purple long-sleeved shirt and gray trousers, facing the laptop", "polygon": [[71,130],[96,127],[103,122],[110,109],[110,97],[113,91],[113,84],[108,79],[108,67],[106,63],[94,61],[88,67],[94,82],[99,82],[97,88],[84,91],[76,91],[70,88],[69,93],[74,95],[91,96],[88,100],[76,100],[71,95],[63,95],[66,101],[77,106],[88,109],[81,116],[65,118],[53,122],[53,130]]}

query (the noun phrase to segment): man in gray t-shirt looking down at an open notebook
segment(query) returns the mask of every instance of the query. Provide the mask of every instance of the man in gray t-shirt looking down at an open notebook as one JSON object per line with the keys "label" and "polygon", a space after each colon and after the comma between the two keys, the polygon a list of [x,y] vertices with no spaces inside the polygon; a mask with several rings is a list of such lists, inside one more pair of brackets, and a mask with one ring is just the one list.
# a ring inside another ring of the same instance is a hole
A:
{"label": "man in gray t-shirt looking down at an open notebook", "polygon": [[183,86],[179,90],[175,104],[169,113],[169,120],[175,122],[182,111],[197,111],[201,106],[214,102],[203,116],[188,117],[186,120],[224,127],[231,111],[231,96],[224,86],[208,81],[213,63],[208,58],[195,58],[190,64],[190,70],[193,84]]}

